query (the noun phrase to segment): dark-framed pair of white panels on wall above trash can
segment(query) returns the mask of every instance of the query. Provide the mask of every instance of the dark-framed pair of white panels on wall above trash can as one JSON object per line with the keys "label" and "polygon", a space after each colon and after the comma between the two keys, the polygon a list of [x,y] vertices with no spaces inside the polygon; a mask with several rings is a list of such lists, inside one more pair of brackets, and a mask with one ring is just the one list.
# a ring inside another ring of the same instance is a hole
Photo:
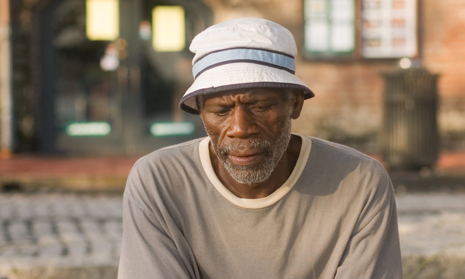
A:
{"label": "dark-framed pair of white panels on wall above trash can", "polygon": [[304,0],[304,20],[310,58],[418,55],[417,0]]}

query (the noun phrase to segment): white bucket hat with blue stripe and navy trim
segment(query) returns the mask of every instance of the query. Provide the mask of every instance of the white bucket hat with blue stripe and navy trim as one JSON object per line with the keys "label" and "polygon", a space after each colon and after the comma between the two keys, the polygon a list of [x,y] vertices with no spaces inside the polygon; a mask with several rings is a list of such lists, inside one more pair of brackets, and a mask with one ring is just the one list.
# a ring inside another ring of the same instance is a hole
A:
{"label": "white bucket hat with blue stripe and navy trim", "polygon": [[302,90],[315,96],[295,76],[297,47],[292,33],[269,20],[243,18],[208,27],[192,40],[189,50],[194,82],[179,108],[199,114],[195,96],[256,87]]}

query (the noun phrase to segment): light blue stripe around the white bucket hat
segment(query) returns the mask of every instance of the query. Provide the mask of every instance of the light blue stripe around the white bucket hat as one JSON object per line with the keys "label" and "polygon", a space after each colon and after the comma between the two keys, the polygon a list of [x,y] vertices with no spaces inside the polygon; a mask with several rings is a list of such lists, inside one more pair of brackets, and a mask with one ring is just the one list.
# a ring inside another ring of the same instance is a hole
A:
{"label": "light blue stripe around the white bucket hat", "polygon": [[279,68],[286,68],[295,72],[295,60],[284,54],[260,49],[230,48],[207,54],[202,59],[195,62],[192,67],[194,79],[206,68],[216,64],[226,64],[228,61],[233,62],[234,60],[255,60],[257,62],[275,65]]}

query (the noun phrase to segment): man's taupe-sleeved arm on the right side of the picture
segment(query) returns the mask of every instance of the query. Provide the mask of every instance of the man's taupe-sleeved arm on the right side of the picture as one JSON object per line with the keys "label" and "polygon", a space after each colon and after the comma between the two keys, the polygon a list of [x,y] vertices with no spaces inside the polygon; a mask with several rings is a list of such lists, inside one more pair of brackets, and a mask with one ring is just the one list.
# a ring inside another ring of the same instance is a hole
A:
{"label": "man's taupe-sleeved arm on the right side of the picture", "polygon": [[366,194],[365,205],[339,263],[337,279],[403,278],[391,181],[384,169],[379,179],[370,180],[375,180],[375,188]]}

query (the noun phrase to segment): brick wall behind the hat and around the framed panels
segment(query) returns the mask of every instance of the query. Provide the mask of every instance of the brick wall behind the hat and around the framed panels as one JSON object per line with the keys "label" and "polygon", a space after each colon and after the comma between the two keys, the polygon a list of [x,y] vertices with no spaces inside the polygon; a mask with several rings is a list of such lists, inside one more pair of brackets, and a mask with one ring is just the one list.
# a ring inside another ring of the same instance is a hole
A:
{"label": "brick wall behind the hat and around the framed panels", "polygon": [[[299,47],[297,75],[314,91],[295,132],[362,145],[375,151],[383,118],[381,73],[398,68],[398,60],[311,61],[302,57],[302,0],[204,0],[215,23],[238,17],[262,17],[288,28]],[[444,145],[465,148],[465,2],[420,2],[421,60],[440,74],[439,130]],[[276,11],[279,11],[277,13]],[[358,146],[357,146],[358,147]]]}

